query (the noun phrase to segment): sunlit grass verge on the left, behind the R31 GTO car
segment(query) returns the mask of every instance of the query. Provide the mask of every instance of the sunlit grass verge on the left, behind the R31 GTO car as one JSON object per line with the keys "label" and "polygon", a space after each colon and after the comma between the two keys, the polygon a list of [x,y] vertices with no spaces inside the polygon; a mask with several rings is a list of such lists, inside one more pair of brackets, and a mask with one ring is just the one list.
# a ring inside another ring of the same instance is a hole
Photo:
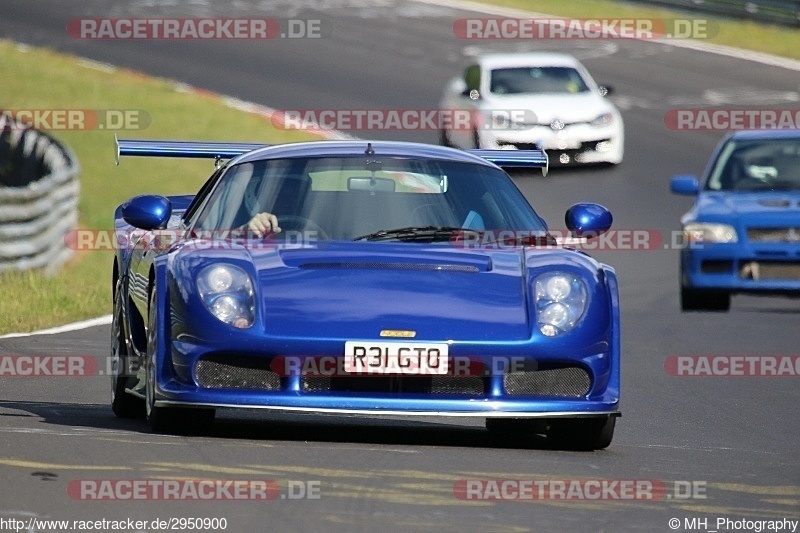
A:
{"label": "sunlit grass verge on the left, behind the R31 GTO car", "polygon": [[[174,82],[110,69],[48,50],[0,40],[3,79],[0,109],[136,110],[143,130],[120,138],[263,141],[318,139],[275,129],[264,117],[237,111],[212,96],[187,93]],[[146,115],[144,115],[146,114]],[[114,163],[114,134],[103,130],[50,132],[75,152],[81,165],[80,225],[113,229],[114,208],[137,194],[191,193],[213,171],[211,161],[132,158]],[[0,273],[0,334],[33,331],[111,312],[108,251],[76,252],[55,276]]]}

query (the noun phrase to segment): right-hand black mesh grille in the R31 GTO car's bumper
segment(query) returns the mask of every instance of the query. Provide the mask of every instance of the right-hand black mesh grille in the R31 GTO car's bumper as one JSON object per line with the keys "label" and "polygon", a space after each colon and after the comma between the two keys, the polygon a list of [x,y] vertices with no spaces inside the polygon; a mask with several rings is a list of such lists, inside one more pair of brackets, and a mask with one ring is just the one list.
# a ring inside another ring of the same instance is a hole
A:
{"label": "right-hand black mesh grille in the R31 GTO car's bumper", "polygon": [[589,393],[591,385],[589,373],[576,366],[509,372],[503,376],[506,393],[515,396],[580,398]]}

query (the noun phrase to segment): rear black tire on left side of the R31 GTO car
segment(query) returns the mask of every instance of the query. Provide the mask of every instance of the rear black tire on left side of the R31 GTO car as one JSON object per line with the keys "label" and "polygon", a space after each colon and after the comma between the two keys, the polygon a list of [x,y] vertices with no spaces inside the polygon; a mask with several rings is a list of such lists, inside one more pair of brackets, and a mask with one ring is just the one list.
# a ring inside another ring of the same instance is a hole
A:
{"label": "rear black tire on left side of the R31 GTO car", "polygon": [[111,409],[120,418],[142,418],[144,401],[125,392],[125,389],[133,386],[134,376],[130,375],[121,287],[122,283],[117,280],[114,289],[114,314],[111,321]]}

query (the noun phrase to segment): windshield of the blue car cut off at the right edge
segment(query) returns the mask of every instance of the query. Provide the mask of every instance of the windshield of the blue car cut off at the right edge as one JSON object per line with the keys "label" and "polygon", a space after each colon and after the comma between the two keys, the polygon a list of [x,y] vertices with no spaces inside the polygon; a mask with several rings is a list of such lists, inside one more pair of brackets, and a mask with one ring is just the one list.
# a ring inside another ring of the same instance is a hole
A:
{"label": "windshield of the blue car cut off at the right edge", "polygon": [[706,188],[712,191],[800,189],[800,139],[728,141]]}

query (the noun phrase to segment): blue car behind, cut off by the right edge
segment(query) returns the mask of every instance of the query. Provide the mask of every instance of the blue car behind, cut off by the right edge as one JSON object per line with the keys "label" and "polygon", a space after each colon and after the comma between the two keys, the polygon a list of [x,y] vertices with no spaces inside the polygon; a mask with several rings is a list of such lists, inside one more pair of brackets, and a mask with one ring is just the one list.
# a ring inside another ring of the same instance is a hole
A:
{"label": "blue car behind, cut off by the right edge", "polygon": [[727,311],[731,294],[800,296],[800,131],[737,131],[702,180],[675,176],[697,196],[681,218],[681,308]]}

